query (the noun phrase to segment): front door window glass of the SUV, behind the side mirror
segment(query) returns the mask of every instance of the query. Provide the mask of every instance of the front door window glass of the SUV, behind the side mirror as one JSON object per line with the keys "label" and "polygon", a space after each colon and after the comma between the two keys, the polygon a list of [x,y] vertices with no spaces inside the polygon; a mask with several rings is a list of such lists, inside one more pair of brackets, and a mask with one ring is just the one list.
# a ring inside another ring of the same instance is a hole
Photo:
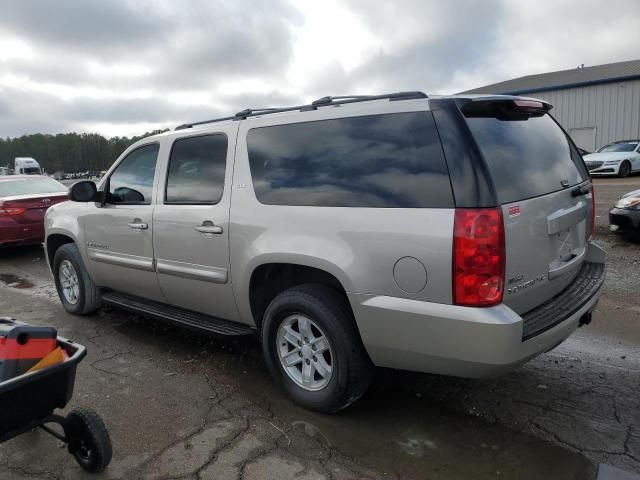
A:
{"label": "front door window glass of the SUV, behind the side mirror", "polygon": [[149,205],[160,145],[151,143],[136,148],[125,157],[109,177],[108,202]]}

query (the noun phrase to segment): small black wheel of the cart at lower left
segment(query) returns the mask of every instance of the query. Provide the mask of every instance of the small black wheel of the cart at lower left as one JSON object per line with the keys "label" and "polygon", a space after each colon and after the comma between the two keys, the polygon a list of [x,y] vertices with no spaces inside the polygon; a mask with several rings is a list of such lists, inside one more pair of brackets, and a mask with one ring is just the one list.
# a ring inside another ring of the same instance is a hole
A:
{"label": "small black wheel of the cart at lower left", "polygon": [[101,472],[111,462],[111,438],[93,410],[76,408],[66,417],[69,453],[87,472]]}

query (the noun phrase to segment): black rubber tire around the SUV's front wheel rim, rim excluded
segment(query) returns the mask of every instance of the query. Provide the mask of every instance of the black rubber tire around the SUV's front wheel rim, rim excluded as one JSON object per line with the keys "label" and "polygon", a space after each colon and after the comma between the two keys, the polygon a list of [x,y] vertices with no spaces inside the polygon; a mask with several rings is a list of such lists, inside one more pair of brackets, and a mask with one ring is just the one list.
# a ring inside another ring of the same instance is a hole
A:
{"label": "black rubber tire around the SUV's front wheel rim, rim excluded", "polygon": [[[71,303],[67,300],[63,293],[62,285],[60,283],[60,265],[63,261],[68,260],[73,265],[78,275],[78,287],[79,295],[76,303]],[[64,309],[73,313],[74,315],[88,315],[95,312],[102,307],[102,295],[100,290],[95,286],[87,269],[84,268],[82,257],[76,247],[75,243],[67,243],[62,245],[53,257],[53,278],[56,282],[56,289],[58,290],[58,296],[62,302]]]}

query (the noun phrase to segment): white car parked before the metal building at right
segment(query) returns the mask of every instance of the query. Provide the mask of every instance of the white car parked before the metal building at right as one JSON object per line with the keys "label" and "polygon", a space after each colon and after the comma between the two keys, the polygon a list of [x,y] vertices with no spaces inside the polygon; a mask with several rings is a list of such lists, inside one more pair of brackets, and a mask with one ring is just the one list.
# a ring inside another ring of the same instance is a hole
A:
{"label": "white car parked before the metal building at right", "polygon": [[640,171],[640,140],[610,143],[583,158],[591,175],[627,177]]}

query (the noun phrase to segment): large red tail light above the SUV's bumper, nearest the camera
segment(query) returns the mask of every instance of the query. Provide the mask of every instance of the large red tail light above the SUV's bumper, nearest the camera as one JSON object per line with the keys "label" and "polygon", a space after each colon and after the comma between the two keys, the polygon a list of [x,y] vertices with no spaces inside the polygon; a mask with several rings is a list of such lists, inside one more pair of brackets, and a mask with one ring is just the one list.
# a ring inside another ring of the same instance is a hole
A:
{"label": "large red tail light above the SUV's bumper, nearest the camera", "polygon": [[499,208],[457,209],[453,227],[453,301],[489,307],[502,302],[504,222]]}

